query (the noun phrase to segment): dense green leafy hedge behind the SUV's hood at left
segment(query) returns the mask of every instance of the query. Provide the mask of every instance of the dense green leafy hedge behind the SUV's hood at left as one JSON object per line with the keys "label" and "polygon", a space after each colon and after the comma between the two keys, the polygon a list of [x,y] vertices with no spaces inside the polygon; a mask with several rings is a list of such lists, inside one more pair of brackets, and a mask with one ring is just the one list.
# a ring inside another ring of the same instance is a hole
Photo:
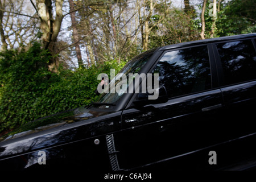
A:
{"label": "dense green leafy hedge behind the SUV's hood at left", "polygon": [[94,90],[100,73],[117,73],[125,61],[105,62],[75,71],[49,72],[51,56],[34,43],[27,51],[0,53],[0,132],[60,111],[88,105],[97,99]]}

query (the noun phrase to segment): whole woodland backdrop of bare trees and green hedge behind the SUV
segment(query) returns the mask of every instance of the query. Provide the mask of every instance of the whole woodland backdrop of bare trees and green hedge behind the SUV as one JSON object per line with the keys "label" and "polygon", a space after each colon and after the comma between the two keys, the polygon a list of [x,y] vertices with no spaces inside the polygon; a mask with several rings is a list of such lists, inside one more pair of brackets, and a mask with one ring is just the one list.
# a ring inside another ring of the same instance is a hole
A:
{"label": "whole woodland backdrop of bare trees and green hedge behind the SUV", "polygon": [[151,48],[256,32],[256,0],[0,0],[0,135],[97,99]]}

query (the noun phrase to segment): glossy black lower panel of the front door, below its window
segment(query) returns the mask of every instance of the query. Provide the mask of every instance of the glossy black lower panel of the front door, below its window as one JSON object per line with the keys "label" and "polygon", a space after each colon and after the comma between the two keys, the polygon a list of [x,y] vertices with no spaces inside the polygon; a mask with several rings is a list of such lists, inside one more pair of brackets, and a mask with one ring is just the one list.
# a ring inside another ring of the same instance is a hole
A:
{"label": "glossy black lower panel of the front door, below its window", "polygon": [[119,145],[123,147],[120,158],[125,160],[120,164],[133,168],[222,142],[217,125],[212,124],[220,121],[218,111],[202,111],[220,103],[217,89],[123,111]]}

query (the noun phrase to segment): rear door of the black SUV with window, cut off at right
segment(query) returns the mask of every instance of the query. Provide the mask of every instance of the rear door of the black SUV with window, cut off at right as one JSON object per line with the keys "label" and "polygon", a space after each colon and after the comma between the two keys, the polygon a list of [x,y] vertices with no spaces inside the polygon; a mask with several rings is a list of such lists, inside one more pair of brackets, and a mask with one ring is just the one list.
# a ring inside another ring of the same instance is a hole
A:
{"label": "rear door of the black SUV with window, cut off at right", "polygon": [[[256,134],[256,52],[255,39],[232,40],[214,44],[220,89],[224,98],[225,138],[243,138],[246,146],[235,147],[236,159],[255,154]],[[247,140],[247,142],[246,142]],[[245,153],[243,152],[245,151]]]}

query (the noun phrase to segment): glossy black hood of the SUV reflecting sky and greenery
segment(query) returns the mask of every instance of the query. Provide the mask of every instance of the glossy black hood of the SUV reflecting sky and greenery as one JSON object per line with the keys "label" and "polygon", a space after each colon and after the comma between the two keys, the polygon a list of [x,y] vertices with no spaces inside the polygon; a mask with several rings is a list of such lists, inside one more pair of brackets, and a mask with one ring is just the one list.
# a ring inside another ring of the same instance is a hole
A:
{"label": "glossy black hood of the SUV reflecting sky and greenery", "polygon": [[83,106],[37,119],[0,138],[0,159],[112,132],[120,114]]}

